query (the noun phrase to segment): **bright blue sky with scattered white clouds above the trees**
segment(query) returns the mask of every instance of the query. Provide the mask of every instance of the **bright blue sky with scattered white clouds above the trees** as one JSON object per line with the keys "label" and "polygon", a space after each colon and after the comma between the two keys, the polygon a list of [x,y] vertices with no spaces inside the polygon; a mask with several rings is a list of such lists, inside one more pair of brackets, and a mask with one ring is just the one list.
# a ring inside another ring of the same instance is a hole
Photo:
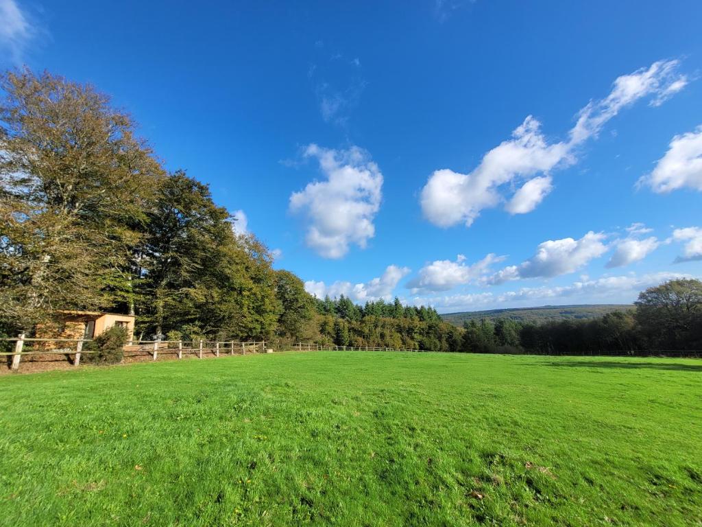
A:
{"label": "bright blue sky with scattered white clouds above the trees", "polygon": [[[702,4],[0,0],[315,294],[442,312],[702,275]],[[243,212],[243,215],[242,215]]]}

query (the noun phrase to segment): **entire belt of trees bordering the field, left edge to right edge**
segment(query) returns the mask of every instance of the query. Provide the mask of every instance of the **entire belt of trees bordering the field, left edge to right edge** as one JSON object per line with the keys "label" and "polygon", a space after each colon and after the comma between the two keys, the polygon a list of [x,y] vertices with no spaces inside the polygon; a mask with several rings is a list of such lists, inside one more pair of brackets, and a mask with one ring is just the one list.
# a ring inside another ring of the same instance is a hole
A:
{"label": "entire belt of trees bordering the field, left edge to right edge", "polygon": [[[315,299],[273,268],[208,186],[169,173],[133,119],[92,86],[0,77],[0,332],[62,310],[136,315],[146,339],[265,339],[431,351],[597,353],[702,347],[702,285],[643,292],[634,310],[545,324],[456,327],[399,299]],[[206,176],[203,174],[201,176]]]}

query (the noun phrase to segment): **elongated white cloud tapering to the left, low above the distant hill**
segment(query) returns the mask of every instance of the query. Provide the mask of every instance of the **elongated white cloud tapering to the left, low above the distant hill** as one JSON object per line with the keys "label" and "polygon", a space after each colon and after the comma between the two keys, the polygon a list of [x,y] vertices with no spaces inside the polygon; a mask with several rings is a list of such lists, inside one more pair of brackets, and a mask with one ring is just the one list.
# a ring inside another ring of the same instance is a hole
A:
{"label": "elongated white cloud tapering to the left, low above the distant hill", "polygon": [[580,240],[563,238],[548,240],[538,245],[536,254],[519,266],[508,266],[486,279],[487,284],[501,284],[524,278],[552,278],[574,273],[590,260],[607,252],[603,241],[606,236],[590,230]]}

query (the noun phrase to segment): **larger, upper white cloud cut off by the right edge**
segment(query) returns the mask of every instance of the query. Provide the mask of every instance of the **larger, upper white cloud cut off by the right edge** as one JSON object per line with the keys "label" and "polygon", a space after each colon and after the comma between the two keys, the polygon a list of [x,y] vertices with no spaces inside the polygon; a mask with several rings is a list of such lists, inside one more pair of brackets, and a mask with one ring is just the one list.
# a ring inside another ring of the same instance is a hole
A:
{"label": "larger, upper white cloud cut off by the right edge", "polygon": [[668,152],[639,184],[651,186],[656,193],[683,187],[702,190],[702,126],[694,132],[673,137]]}

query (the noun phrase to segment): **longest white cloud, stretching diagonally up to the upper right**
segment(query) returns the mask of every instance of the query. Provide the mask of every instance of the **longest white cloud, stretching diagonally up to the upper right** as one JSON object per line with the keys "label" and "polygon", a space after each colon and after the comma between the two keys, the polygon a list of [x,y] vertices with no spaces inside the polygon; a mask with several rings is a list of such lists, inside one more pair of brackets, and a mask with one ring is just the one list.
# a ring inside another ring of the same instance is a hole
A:
{"label": "longest white cloud, stretching diagonally up to the upper right", "polygon": [[[440,227],[461,222],[470,226],[483,209],[505,200],[503,190],[523,179],[531,181],[517,190],[507,209],[512,214],[530,212],[552,188],[550,171],[576,162],[578,145],[597,136],[619,110],[644,96],[656,96],[662,102],[680,91],[687,79],[677,74],[677,66],[677,60],[660,61],[618,77],[606,98],[593,101],[578,112],[578,121],[567,141],[549,143],[541,133],[541,124],[529,115],[512,138],[487,152],[472,172],[435,171],[420,195],[425,218]],[[538,174],[543,175],[534,178]]]}

